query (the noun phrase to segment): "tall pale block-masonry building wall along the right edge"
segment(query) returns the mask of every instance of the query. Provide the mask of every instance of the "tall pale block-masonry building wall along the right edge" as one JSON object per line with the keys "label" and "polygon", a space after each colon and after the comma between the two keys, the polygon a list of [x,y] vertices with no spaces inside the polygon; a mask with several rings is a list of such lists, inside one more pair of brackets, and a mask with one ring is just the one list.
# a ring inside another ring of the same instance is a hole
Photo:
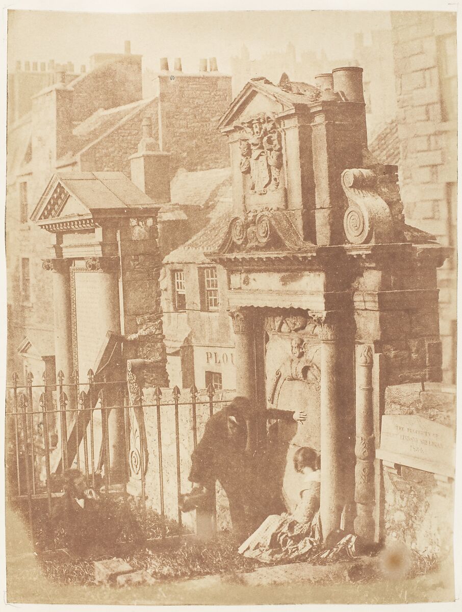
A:
{"label": "tall pale block-masonry building wall along the right edge", "polygon": [[[400,187],[409,225],[456,247],[455,13],[392,12]],[[438,271],[443,370],[455,382],[456,257]]]}

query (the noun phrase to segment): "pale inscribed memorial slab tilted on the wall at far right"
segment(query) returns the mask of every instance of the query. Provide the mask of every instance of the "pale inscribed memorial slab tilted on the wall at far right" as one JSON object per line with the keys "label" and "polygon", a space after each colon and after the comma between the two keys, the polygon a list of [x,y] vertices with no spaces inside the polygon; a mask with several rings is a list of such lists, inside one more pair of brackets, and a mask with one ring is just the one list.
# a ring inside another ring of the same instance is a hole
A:
{"label": "pale inscribed memorial slab tilted on the wall at far right", "polygon": [[453,477],[455,434],[450,427],[413,414],[386,414],[376,457]]}

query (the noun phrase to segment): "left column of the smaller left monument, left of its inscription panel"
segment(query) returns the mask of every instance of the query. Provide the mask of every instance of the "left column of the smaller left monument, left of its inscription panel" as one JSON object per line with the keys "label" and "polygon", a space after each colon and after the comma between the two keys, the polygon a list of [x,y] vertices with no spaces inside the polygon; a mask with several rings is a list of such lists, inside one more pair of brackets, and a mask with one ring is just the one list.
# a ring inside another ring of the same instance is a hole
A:
{"label": "left column of the smaller left monument, left of its inscription panel", "polygon": [[58,258],[43,261],[43,269],[53,272],[54,359],[56,375],[62,371],[64,384],[72,383],[73,371],[70,263]]}

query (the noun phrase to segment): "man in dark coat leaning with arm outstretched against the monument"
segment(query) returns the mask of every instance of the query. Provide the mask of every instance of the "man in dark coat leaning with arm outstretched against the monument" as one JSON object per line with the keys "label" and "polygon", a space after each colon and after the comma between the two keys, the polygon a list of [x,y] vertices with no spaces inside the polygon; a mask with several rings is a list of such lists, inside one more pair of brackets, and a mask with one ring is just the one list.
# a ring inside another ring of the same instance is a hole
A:
{"label": "man in dark coat leaning with arm outstretched against the monument", "polygon": [[[303,411],[267,409],[266,419],[303,422]],[[204,435],[192,454],[189,475],[191,493],[182,496],[181,507],[189,512],[210,499],[218,480],[229,501],[233,531],[249,534],[265,513],[264,487],[258,482],[256,455],[250,450],[248,424],[255,418],[247,398],[236,397],[206,423]]]}

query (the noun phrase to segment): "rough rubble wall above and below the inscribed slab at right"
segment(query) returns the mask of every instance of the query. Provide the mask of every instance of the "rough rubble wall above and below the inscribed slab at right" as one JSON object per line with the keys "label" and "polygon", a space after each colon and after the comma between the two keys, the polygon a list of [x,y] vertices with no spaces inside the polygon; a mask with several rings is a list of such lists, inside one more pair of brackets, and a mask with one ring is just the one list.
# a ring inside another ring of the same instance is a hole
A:
{"label": "rough rubble wall above and below the inscribed slab at right", "polygon": [[[401,384],[386,389],[385,414],[412,414],[455,427],[455,394],[438,384]],[[383,469],[386,542],[400,540],[420,554],[450,554],[453,532],[453,484],[434,474],[401,466]]]}

